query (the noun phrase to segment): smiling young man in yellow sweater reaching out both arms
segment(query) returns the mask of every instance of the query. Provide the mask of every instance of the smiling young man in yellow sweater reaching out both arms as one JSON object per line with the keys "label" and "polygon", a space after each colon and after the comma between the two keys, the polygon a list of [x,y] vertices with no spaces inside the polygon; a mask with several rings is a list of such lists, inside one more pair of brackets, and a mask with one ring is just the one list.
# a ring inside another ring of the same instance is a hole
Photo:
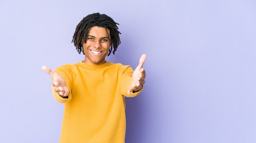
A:
{"label": "smiling young man in yellow sweater reaching out both arms", "polygon": [[105,61],[120,44],[117,23],[93,13],[76,26],[73,40],[84,61],[43,70],[53,79],[55,100],[64,103],[60,143],[124,143],[124,97],[139,94],[145,83],[143,54],[135,69]]}

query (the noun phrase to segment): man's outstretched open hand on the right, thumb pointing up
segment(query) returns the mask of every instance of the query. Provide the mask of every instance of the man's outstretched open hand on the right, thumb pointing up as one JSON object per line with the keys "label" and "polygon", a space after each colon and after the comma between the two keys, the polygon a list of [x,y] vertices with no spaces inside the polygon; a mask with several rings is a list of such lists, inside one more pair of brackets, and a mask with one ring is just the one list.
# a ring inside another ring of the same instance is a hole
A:
{"label": "man's outstretched open hand on the right, thumb pointing up", "polygon": [[134,72],[132,74],[132,85],[127,92],[128,94],[130,94],[130,92],[132,92],[132,91],[134,91],[134,92],[139,91],[142,88],[142,86],[144,85],[145,78],[146,78],[146,72],[142,66],[143,66],[145,60],[146,60],[146,54],[143,54],[139,59],[139,65],[136,67],[136,69],[134,70]]}

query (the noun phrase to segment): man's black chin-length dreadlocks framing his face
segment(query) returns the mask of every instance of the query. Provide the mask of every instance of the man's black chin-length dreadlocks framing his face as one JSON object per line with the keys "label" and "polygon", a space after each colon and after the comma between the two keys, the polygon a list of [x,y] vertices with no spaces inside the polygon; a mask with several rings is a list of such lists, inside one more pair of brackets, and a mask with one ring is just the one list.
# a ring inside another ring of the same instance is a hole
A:
{"label": "man's black chin-length dreadlocks framing his face", "polygon": [[121,43],[119,37],[119,34],[121,33],[118,31],[117,25],[119,24],[106,14],[92,13],[90,15],[87,15],[86,17],[83,17],[83,20],[81,20],[81,22],[79,22],[79,24],[76,26],[76,30],[72,39],[72,42],[74,42],[77,52],[79,54],[83,52],[83,43],[86,43],[86,39],[90,29],[93,26],[98,26],[105,28],[106,31],[107,29],[110,30],[110,35],[107,31],[108,37],[110,37],[109,40],[111,42],[111,48],[109,48],[108,56],[111,54],[112,48],[114,48],[113,54],[115,54],[118,45],[120,45]]}

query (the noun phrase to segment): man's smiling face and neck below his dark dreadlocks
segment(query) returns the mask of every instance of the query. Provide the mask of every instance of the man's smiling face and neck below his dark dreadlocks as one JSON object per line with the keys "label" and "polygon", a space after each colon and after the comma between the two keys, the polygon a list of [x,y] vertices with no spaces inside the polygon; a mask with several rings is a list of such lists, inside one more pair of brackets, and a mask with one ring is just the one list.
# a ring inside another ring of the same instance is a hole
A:
{"label": "man's smiling face and neck below his dark dreadlocks", "polygon": [[83,52],[85,54],[84,63],[89,65],[102,65],[105,63],[105,57],[110,48],[110,30],[108,33],[105,28],[94,26],[90,29],[86,43],[83,43]]}

